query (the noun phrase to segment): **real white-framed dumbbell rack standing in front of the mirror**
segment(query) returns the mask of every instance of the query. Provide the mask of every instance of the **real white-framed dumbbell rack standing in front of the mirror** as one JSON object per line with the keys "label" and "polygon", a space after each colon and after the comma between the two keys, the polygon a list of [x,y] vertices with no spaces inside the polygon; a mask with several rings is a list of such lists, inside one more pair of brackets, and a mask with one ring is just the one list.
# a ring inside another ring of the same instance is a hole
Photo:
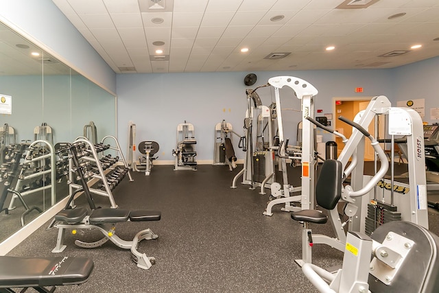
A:
{"label": "real white-framed dumbbell rack standing in front of the mirror", "polygon": [[[82,138],[77,139],[72,143],[72,148],[76,149],[73,151],[72,149],[70,150],[71,158],[69,159],[69,194],[72,195],[73,193],[83,189],[83,183],[75,183],[75,173],[82,172],[82,176],[88,180],[86,185],[89,191],[98,196],[108,197],[108,200],[110,200],[110,206],[112,208],[117,208],[115,199],[112,196],[112,189],[114,189],[120,180],[123,179],[125,174],[128,174],[130,181],[132,181],[132,178],[130,172],[128,171],[128,165],[123,158],[123,154],[117,139],[112,137],[116,144],[116,147],[112,147],[110,145],[104,145],[104,140],[106,140],[106,138],[108,137],[102,139],[102,143],[99,145],[93,145],[91,141]],[[103,154],[106,150],[115,150],[119,154],[119,156],[116,156],[116,158],[119,157],[119,159],[113,161],[112,165],[104,167],[102,164],[102,159],[104,158]],[[77,160],[77,162],[75,163],[73,160]],[[89,167],[92,165],[93,169]],[[120,165],[123,165],[124,168],[119,168]],[[124,173],[122,172],[122,169]],[[109,176],[115,173],[120,176],[119,180],[117,182],[113,181],[112,183],[109,183]],[[100,188],[95,188],[96,185],[98,185]]]}

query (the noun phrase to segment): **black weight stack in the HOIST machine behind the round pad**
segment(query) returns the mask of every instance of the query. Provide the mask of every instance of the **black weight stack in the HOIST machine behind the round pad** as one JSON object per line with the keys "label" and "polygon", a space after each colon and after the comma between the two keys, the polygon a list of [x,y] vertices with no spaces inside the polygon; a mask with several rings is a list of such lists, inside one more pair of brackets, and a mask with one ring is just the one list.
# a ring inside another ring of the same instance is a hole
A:
{"label": "black weight stack in the HOIST machine behind the round pad", "polygon": [[368,204],[365,233],[371,235],[382,224],[399,220],[401,220],[401,213],[398,212],[397,207],[371,200]]}

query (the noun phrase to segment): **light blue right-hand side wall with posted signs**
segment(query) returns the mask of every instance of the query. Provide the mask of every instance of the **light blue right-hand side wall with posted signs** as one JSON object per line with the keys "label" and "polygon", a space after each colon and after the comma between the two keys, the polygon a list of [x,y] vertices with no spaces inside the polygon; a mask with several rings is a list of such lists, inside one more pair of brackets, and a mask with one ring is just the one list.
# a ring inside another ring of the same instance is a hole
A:
{"label": "light blue right-hand side wall with posted signs", "polygon": [[394,69],[394,99],[425,99],[424,121],[438,123],[431,119],[430,109],[439,108],[439,57],[430,58]]}

